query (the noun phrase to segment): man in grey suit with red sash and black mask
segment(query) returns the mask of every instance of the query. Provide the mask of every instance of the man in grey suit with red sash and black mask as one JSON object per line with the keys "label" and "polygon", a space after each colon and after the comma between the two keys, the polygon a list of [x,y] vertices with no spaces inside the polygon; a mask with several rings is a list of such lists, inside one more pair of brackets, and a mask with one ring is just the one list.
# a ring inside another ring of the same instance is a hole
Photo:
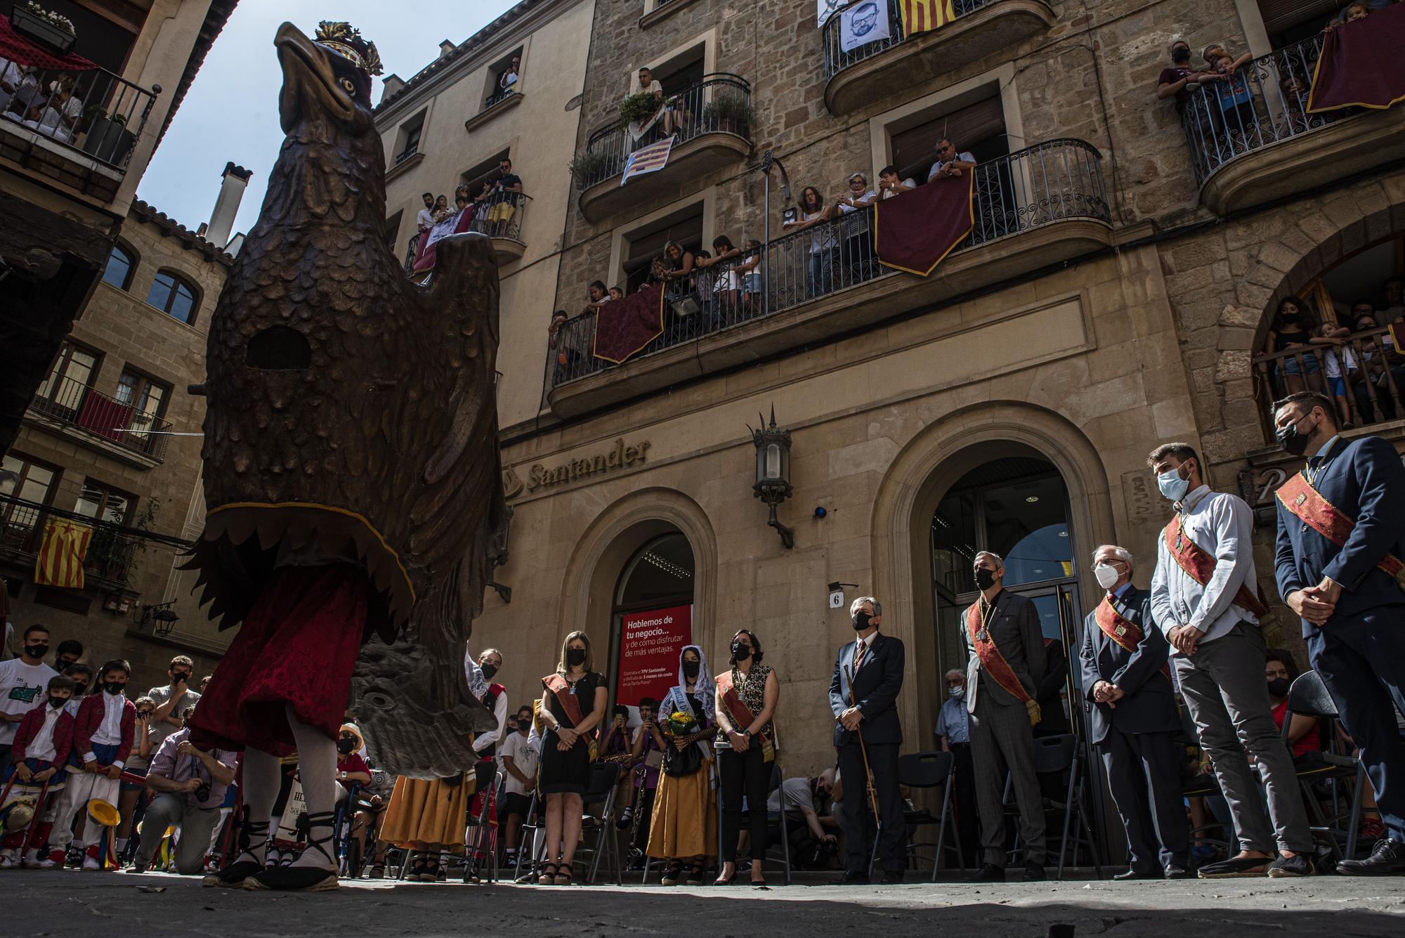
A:
{"label": "man in grey suit with red sash and black mask", "polygon": [[1024,879],[1044,879],[1044,802],[1034,775],[1035,701],[1044,678],[1044,635],[1034,604],[1006,593],[1005,560],[975,555],[981,597],[961,619],[969,660],[967,711],[971,713],[971,755],[981,807],[981,869],[971,882],[1005,882],[1005,769],[1014,782],[1024,838]]}

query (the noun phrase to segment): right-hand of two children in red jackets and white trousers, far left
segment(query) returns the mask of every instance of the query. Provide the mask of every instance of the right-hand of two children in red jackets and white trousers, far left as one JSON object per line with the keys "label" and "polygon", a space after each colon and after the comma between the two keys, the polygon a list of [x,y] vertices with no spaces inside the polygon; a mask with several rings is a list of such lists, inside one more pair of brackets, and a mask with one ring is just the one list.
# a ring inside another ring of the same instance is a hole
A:
{"label": "right-hand of two children in red jackets and white trousers, far left", "polygon": [[[122,767],[136,737],[136,706],[125,696],[131,666],[112,660],[98,671],[98,692],[83,698],[73,720],[73,753],[69,757],[67,784],[53,809],[53,841],[51,859],[63,862],[65,850],[73,840],[73,820],[86,812],[93,799],[117,806]],[[103,868],[103,834],[98,824],[84,824],[79,847],[87,848],[83,869]]]}

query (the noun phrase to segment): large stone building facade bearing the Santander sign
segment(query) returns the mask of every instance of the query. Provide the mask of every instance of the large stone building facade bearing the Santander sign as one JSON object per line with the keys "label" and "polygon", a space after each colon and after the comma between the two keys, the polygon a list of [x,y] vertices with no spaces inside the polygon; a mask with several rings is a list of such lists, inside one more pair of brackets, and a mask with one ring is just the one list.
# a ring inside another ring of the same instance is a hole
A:
{"label": "large stone building facade bearing the Santander sign", "polygon": [[[629,616],[687,605],[714,671],[736,628],[756,630],[783,681],[785,771],[812,772],[832,760],[826,688],[847,600],[874,594],[908,645],[906,746],[930,748],[941,675],[962,659],[971,555],[1012,556],[1045,638],[1072,653],[1099,595],[1094,548],[1127,546],[1135,580],[1149,577],[1169,514],[1145,466],[1154,445],[1197,445],[1211,484],[1259,508],[1291,470],[1266,425],[1284,389],[1283,362],[1263,358],[1279,299],[1311,295],[1347,323],[1359,295],[1401,272],[1401,114],[1311,118],[1284,91],[1311,74],[1321,21],[1266,20],[1255,0],[986,0],[906,37],[887,7],[894,38],[851,51],[809,3],[594,7],[552,303],[579,313],[573,357],[538,337],[527,366],[544,388],[504,378],[499,400],[516,514],[497,579],[511,598],[488,595],[475,636],[503,650],[514,695],[575,629],[614,687]],[[1250,53],[1241,125],[1205,110],[1208,86],[1184,112],[1158,100],[1177,38],[1196,67],[1210,44]],[[663,170],[621,185],[649,142],[617,126],[641,66],[686,126]],[[722,95],[749,98],[749,118],[728,118]],[[791,197],[815,185],[833,202],[850,174],[871,184],[889,163],[922,181],[943,135],[976,152],[971,240],[926,278],[806,292],[805,246],[783,233]],[[695,250],[718,234],[769,236],[760,298],[721,326],[666,315],[641,354],[593,359],[587,284],[632,291],[666,239]],[[791,432],[778,518],[792,549],[752,491],[749,424],[771,406]],[[1353,432],[1401,435],[1384,416]],[[610,463],[643,442],[646,459]],[[836,608],[830,584],[857,586]],[[1295,632],[1273,635],[1301,650]],[[1062,698],[1076,730],[1078,688]]]}

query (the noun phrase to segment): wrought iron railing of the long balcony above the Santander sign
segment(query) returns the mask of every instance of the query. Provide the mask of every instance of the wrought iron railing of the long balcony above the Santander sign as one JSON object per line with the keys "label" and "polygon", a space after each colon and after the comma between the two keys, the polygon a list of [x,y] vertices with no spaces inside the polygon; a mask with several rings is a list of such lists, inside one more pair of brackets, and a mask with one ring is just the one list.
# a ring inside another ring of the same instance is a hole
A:
{"label": "wrought iron railing of the long balcony above the Santander sign", "polygon": [[[1083,140],[1059,139],[982,163],[972,170],[975,226],[957,251],[1065,219],[1111,223],[1102,157]],[[873,208],[821,222],[669,282],[669,300],[691,295],[701,312],[665,312],[663,333],[635,358],[792,309],[867,281],[891,277],[873,253]],[[860,302],[860,299],[856,299]],[[547,389],[613,368],[592,354],[596,313],[566,322],[554,337]],[[628,366],[625,362],[624,366]]]}

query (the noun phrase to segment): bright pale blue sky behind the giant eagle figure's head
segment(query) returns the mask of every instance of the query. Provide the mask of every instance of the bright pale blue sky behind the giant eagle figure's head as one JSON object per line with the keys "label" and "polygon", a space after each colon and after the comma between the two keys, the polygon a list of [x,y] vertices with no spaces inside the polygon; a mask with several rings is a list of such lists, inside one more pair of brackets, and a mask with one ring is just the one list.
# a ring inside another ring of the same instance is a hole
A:
{"label": "bright pale blue sky behind the giant eagle figure's head", "polygon": [[[259,216],[268,170],[278,157],[282,73],[273,37],[289,20],[312,35],[319,20],[347,20],[375,42],[386,74],[407,79],[438,55],[441,39],[462,42],[516,0],[243,0],[191,84],[138,195],[191,230],[209,220],[225,161],[253,170],[236,232]],[[377,80],[371,100],[381,100]]]}

